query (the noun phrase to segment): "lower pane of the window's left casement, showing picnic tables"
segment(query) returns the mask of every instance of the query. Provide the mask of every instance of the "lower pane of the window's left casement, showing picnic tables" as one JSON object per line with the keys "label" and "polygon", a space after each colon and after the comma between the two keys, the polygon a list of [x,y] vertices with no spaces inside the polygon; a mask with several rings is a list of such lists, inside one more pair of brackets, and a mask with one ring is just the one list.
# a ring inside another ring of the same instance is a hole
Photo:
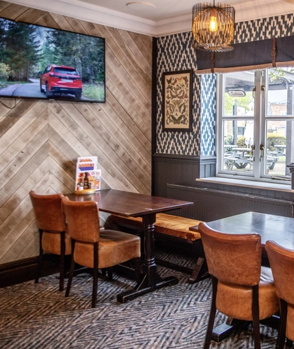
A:
{"label": "lower pane of the window's left casement, showing picnic tables", "polygon": [[252,173],[253,121],[224,120],[222,170]]}

